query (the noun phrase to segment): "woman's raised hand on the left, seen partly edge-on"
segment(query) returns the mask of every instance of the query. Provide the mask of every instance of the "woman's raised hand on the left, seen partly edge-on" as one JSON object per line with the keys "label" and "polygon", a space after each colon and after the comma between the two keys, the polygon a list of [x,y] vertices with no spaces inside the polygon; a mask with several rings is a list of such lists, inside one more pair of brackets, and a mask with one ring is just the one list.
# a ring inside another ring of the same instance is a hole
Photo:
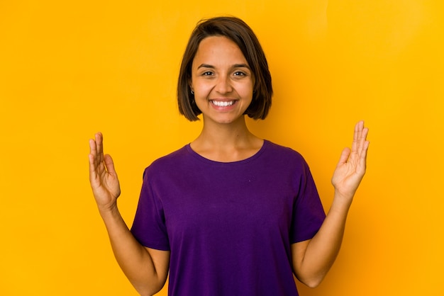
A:
{"label": "woman's raised hand on the left, seen partly edge-on", "polygon": [[111,210],[116,207],[121,194],[113,159],[104,155],[104,138],[96,133],[95,140],[89,140],[89,182],[99,210]]}

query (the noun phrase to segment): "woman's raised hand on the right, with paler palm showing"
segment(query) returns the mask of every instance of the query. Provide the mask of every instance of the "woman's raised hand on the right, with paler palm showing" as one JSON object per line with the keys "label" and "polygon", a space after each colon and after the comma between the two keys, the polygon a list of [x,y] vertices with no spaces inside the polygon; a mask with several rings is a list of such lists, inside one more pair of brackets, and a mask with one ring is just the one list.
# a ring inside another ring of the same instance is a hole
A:
{"label": "woman's raised hand on the right, with paler palm showing", "polygon": [[336,166],[331,183],[335,187],[335,193],[351,202],[365,174],[367,149],[370,142],[367,141],[368,128],[360,121],[355,125],[352,149],[343,149],[338,165]]}

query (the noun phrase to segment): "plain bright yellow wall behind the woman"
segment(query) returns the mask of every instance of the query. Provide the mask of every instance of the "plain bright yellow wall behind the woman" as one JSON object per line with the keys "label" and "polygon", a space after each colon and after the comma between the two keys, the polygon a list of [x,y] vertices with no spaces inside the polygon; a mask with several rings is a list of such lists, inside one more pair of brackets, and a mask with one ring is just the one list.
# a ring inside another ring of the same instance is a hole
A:
{"label": "plain bright yellow wall behind the woman", "polygon": [[273,107],[252,131],[306,157],[326,209],[354,123],[370,127],[343,249],[301,295],[444,295],[441,0],[0,1],[0,295],[136,295],[91,195],[88,140],[104,132],[131,224],[145,166],[199,133],[177,72],[195,23],[221,14],[249,23],[270,63]]}

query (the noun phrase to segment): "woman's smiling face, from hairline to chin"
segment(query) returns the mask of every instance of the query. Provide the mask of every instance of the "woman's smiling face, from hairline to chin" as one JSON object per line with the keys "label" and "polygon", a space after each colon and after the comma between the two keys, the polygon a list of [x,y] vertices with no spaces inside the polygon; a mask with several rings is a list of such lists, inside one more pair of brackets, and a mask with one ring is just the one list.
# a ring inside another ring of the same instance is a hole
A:
{"label": "woman's smiling face, from hairline to chin", "polygon": [[201,41],[193,59],[191,89],[204,122],[243,120],[253,85],[251,69],[235,42],[221,36]]}

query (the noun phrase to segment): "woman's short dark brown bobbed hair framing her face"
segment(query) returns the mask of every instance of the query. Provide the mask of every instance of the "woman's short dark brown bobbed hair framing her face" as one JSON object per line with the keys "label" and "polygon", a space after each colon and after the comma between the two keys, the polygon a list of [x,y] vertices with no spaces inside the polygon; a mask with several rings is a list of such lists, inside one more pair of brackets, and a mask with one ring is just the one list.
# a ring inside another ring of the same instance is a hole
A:
{"label": "woman's short dark brown bobbed hair framing her face", "polygon": [[255,86],[250,106],[245,114],[254,119],[265,119],[272,104],[272,77],[268,69],[265,53],[259,40],[251,28],[240,18],[220,16],[199,21],[189,38],[187,48],[180,66],[179,81],[177,82],[177,103],[180,114],[190,121],[199,120],[197,115],[201,110],[194,102],[194,95],[189,86],[192,81],[192,63],[204,38],[224,36],[240,48],[252,71]]}

